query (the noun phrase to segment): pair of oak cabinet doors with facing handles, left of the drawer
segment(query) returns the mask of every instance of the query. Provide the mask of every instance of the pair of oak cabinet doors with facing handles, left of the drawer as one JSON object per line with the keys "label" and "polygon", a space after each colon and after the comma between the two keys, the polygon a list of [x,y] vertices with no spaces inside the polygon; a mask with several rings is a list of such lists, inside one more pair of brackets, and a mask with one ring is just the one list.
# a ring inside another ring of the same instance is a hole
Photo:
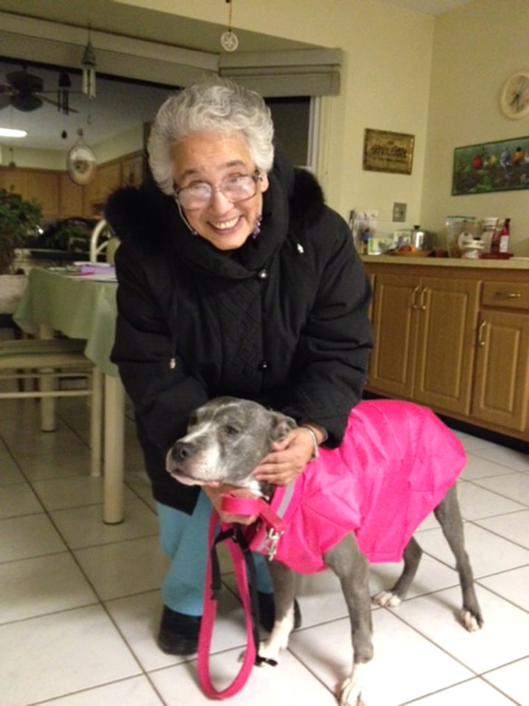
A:
{"label": "pair of oak cabinet doors with facing handles, left of the drawer", "polygon": [[377,275],[369,387],[470,412],[478,282]]}

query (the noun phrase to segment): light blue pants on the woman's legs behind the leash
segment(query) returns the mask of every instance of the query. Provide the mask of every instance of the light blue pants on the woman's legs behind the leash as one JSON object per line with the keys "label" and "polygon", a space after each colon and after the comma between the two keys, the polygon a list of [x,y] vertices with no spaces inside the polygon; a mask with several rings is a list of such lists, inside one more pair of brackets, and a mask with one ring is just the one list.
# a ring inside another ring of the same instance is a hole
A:
{"label": "light blue pants on the woman's legs behind the leash", "polygon": [[[162,551],[171,564],[162,583],[164,605],[190,616],[202,615],[204,580],[209,548],[207,529],[212,505],[200,493],[193,515],[157,503]],[[257,590],[272,592],[272,582],[261,554],[254,554]]]}

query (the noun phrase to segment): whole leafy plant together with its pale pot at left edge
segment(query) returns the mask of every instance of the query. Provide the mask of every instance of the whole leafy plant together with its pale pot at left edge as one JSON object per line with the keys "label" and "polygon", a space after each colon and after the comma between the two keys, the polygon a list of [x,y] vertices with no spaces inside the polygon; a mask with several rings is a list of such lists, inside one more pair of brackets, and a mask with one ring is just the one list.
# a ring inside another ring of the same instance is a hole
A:
{"label": "whole leafy plant together with its pale pot at left edge", "polygon": [[42,217],[42,205],[26,201],[20,194],[0,189],[0,324],[11,315],[22,296],[27,278],[13,273],[15,251],[23,248],[28,235],[35,231]]}

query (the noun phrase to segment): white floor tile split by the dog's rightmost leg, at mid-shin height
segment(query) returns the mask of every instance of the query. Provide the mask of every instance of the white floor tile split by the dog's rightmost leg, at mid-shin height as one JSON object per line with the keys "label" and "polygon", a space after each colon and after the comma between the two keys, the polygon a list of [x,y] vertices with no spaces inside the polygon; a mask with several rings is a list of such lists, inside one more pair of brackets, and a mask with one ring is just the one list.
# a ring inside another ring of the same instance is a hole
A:
{"label": "white floor tile split by the dog's rightmost leg, at mid-shin height", "polygon": [[[508,539],[498,537],[473,522],[465,522],[464,531],[465,547],[475,577],[495,574],[529,563],[529,550],[509,542]],[[421,532],[418,539],[420,546],[428,554],[448,566],[455,566],[454,555],[443,537],[442,530]]]}

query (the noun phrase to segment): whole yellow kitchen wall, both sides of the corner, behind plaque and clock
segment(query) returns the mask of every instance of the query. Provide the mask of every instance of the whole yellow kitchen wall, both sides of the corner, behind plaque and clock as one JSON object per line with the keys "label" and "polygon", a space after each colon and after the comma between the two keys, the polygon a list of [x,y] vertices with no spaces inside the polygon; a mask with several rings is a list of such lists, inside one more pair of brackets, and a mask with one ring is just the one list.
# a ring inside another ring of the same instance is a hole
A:
{"label": "whole yellow kitchen wall, both sides of the corner, behind plaque and clock", "polygon": [[[120,0],[167,10],[166,0]],[[218,0],[174,0],[177,15],[226,23]],[[250,0],[233,3],[233,27],[344,50],[341,94],[323,99],[317,175],[327,200],[347,217],[379,211],[391,231],[394,201],[408,225],[444,232],[446,215],[511,217],[511,251],[529,256],[529,193],[451,196],[454,148],[529,135],[529,119],[499,111],[514,71],[529,71],[527,0],[473,0],[443,15],[384,0]],[[363,131],[415,135],[410,176],[366,172]]]}

